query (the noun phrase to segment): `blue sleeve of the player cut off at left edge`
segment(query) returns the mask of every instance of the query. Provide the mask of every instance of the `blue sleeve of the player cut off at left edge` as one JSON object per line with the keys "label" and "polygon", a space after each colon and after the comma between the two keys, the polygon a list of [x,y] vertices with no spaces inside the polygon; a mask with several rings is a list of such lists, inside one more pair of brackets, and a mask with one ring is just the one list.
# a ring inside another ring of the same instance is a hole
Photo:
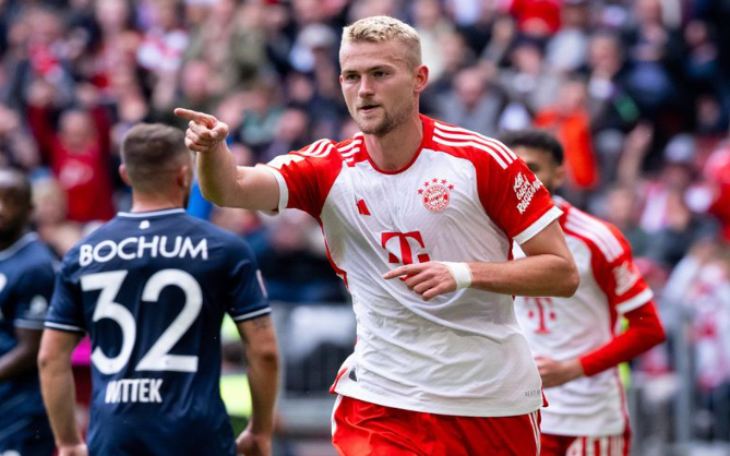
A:
{"label": "blue sleeve of the player cut off at left edge", "polygon": [[13,325],[20,328],[44,328],[48,302],[53,292],[53,266],[39,263],[23,272],[16,288],[16,308]]}

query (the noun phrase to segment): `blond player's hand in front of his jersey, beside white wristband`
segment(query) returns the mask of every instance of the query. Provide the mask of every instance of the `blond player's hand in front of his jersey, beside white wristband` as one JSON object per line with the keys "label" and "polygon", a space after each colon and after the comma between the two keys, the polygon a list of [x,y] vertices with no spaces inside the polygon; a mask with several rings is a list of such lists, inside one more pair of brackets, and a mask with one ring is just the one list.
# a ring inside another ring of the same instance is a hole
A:
{"label": "blond player's hand in front of his jersey, beside white wristband", "polygon": [[424,301],[456,290],[456,280],[446,265],[438,261],[414,263],[391,269],[383,275],[384,279],[402,277],[406,286],[420,295]]}

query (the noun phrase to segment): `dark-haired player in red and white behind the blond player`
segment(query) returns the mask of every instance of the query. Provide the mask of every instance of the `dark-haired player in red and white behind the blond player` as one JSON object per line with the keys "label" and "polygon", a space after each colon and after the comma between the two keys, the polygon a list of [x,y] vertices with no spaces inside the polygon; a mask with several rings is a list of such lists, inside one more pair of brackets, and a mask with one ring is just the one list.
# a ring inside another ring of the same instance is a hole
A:
{"label": "dark-haired player in red and white behind the blond player", "polygon": [[[558,140],[531,130],[502,141],[551,193],[560,188],[564,168]],[[542,410],[541,455],[625,456],[631,431],[617,365],[663,341],[665,333],[621,232],[560,197],[555,202],[581,273],[578,290],[571,298],[515,300],[550,404]],[[629,322],[623,333],[622,316]]]}

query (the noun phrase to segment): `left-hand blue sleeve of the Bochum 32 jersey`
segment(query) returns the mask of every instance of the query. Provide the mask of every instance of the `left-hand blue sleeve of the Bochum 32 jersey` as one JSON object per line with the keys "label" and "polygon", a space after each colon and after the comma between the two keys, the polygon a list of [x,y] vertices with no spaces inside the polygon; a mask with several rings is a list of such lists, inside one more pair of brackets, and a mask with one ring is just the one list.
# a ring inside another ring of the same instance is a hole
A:
{"label": "left-hand blue sleeve of the Bochum 32 jersey", "polygon": [[53,298],[46,317],[46,327],[51,329],[85,333],[86,324],[83,316],[83,303],[79,281],[73,280],[68,264],[56,277]]}

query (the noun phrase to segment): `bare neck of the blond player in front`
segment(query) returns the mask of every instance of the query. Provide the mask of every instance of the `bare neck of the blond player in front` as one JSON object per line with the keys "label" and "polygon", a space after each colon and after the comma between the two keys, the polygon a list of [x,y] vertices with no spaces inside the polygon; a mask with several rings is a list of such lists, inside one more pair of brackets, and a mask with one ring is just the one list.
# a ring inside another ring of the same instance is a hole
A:
{"label": "bare neck of the blond player in front", "polygon": [[418,115],[382,136],[364,135],[370,158],[384,171],[397,171],[408,165],[422,140],[423,122]]}

